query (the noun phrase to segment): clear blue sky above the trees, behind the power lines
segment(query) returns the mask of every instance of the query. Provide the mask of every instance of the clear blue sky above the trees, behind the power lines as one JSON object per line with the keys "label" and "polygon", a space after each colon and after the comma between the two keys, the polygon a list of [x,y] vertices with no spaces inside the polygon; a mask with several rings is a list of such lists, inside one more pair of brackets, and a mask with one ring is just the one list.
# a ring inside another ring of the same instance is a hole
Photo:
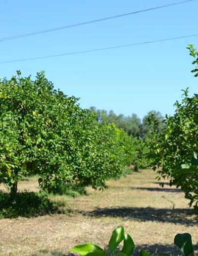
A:
{"label": "clear blue sky above the trees, behind the power lines", "polygon": [[[0,0],[0,38],[86,22],[180,0]],[[198,0],[85,26],[0,42],[0,62],[198,34]],[[79,55],[0,64],[0,77],[45,70],[65,94],[95,106],[143,118],[173,114],[181,89],[197,92],[188,44],[198,37]]]}

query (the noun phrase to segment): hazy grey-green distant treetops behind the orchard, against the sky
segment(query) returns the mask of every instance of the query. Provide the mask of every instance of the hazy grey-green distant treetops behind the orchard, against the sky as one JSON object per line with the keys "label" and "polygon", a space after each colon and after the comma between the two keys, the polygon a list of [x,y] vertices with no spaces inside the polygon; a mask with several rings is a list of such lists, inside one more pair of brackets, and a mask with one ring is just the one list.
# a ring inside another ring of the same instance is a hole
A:
{"label": "hazy grey-green distant treetops behind the orchard, against the sky", "polygon": [[161,132],[164,127],[163,116],[160,112],[154,110],[149,111],[142,121],[136,114],[126,117],[123,114],[116,115],[112,110],[107,112],[106,110],[99,110],[96,107],[91,107],[90,111],[95,113],[98,122],[103,122],[105,124],[114,123],[116,127],[121,128],[129,135],[138,138],[145,138],[149,135],[150,128],[147,119],[150,115],[154,115],[157,120],[155,129]]}

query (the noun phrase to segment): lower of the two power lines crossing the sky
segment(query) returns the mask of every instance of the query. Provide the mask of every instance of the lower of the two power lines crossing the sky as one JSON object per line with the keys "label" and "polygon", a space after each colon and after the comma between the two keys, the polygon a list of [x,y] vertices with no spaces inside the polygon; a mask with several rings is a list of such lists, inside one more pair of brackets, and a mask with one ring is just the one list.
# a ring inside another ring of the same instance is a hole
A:
{"label": "lower of the two power lines crossing the sky", "polygon": [[198,34],[171,37],[171,38],[165,38],[165,39],[159,39],[159,40],[153,40],[153,41],[147,41],[147,42],[141,42],[141,43],[127,44],[127,45],[110,46],[110,47],[91,49],[91,50],[85,50],[85,51],[77,51],[77,52],[69,52],[69,53],[56,54],[56,55],[48,55],[48,56],[33,57],[33,58],[26,58],[26,59],[19,59],[19,60],[11,60],[11,61],[0,62],[0,64],[13,63],[13,62],[24,62],[24,61],[39,60],[39,59],[48,59],[48,58],[54,58],[54,57],[61,57],[61,56],[67,56],[67,55],[78,55],[78,54],[91,53],[91,52],[99,52],[99,51],[124,48],[124,47],[136,46],[136,45],[146,45],[146,44],[152,44],[152,43],[158,43],[158,42],[164,42],[164,41],[172,41],[172,40],[176,40],[176,39],[195,37],[195,36],[198,36]]}

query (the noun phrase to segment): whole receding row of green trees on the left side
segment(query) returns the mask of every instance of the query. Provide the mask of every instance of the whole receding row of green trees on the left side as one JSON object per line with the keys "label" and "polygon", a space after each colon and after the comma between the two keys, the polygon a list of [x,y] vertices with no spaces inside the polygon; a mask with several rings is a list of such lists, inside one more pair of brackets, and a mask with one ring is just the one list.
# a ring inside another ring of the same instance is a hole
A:
{"label": "whole receding row of green trees on the left side", "polygon": [[17,184],[38,174],[39,184],[56,192],[64,184],[102,188],[125,166],[141,159],[143,144],[110,122],[97,122],[78,99],[56,91],[44,72],[0,80],[0,183]]}

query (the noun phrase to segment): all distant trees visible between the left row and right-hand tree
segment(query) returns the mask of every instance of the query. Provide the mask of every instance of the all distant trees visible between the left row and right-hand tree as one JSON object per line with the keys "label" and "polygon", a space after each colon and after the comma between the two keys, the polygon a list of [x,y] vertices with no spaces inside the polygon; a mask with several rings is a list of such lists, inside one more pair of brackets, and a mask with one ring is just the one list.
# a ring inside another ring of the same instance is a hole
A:
{"label": "all distant trees visible between the left row and right-hand tree", "polygon": [[[149,158],[147,157],[147,136],[150,132],[150,128],[147,124],[147,119],[152,114],[156,123],[154,128],[159,132],[162,132],[164,124],[162,123],[163,117],[159,112],[150,111],[148,115],[144,117],[143,123],[137,117],[136,114],[132,114],[131,117],[125,117],[124,115],[116,115],[113,111],[97,110],[95,107],[90,108],[90,112],[94,114],[96,121],[103,124],[114,124],[117,128],[123,131],[121,136],[125,143],[124,151],[128,157],[126,161],[127,166],[134,166],[135,169],[148,168]],[[127,136],[128,134],[128,136]]]}

